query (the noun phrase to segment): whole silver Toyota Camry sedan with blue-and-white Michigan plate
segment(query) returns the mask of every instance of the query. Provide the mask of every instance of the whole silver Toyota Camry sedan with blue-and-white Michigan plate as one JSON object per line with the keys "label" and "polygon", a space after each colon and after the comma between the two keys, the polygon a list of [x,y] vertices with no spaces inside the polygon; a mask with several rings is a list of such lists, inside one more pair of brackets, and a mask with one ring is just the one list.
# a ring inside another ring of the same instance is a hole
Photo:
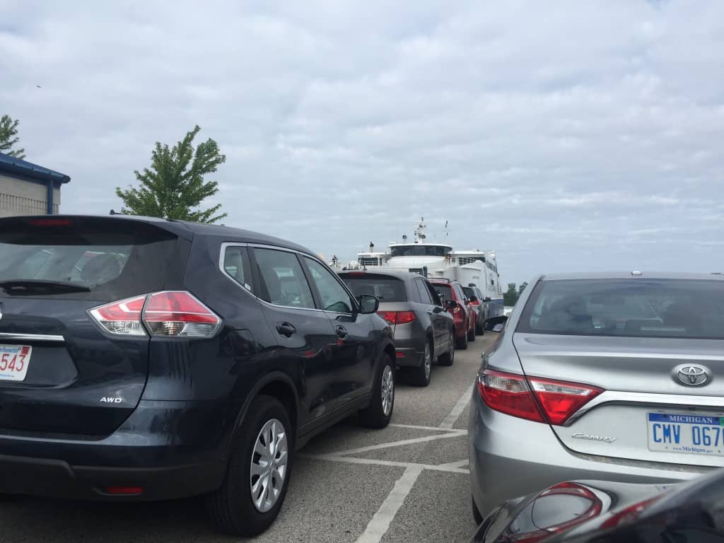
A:
{"label": "whole silver Toyota Camry sedan with blue-and-white Michigan plate", "polygon": [[560,481],[724,466],[724,277],[544,275],[505,319],[468,424],[478,520]]}

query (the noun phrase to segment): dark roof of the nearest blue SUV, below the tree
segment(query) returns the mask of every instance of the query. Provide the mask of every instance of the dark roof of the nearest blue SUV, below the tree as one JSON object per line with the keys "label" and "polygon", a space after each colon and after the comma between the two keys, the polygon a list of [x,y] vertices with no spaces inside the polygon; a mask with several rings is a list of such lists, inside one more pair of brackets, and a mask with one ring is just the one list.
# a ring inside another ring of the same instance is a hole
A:
{"label": "dark roof of the nearest blue SUV, below the tree", "polygon": [[[28,220],[28,219],[48,219],[48,215],[38,216],[12,216],[4,217],[0,221],[17,221],[17,220]],[[240,243],[258,243],[261,245],[277,245],[287,249],[293,249],[294,251],[300,251],[301,253],[307,253],[311,256],[316,256],[308,248],[292,243],[287,240],[279,239],[259,232],[253,232],[251,230],[242,230],[240,228],[218,226],[216,224],[201,224],[198,222],[189,221],[177,221],[174,219],[160,219],[159,217],[153,216],[140,216],[140,215],[53,215],[53,219],[108,219],[113,221],[132,221],[132,222],[145,222],[153,224],[154,226],[161,227],[164,230],[179,235],[180,237],[190,238],[195,235],[210,236],[210,237],[221,237],[227,241],[238,241]]]}

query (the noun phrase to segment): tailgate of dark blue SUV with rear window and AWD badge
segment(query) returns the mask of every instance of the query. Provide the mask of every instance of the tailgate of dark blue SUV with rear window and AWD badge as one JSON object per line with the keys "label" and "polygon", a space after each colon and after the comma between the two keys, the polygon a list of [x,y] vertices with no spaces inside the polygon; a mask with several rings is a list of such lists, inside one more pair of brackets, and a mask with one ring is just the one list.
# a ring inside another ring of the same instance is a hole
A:
{"label": "tailgate of dark blue SUV with rear window and AWD badge", "polygon": [[114,431],[138,405],[147,334],[109,334],[92,308],[167,285],[177,235],[127,219],[0,220],[0,432]]}

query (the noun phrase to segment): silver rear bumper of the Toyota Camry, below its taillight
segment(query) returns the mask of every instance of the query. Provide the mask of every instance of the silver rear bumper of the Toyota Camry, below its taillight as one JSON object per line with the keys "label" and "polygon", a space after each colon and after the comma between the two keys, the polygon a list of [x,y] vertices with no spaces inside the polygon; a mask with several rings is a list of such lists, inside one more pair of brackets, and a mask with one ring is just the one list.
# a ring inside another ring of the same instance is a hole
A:
{"label": "silver rear bumper of the Toyota Camry, below its taillight", "polygon": [[547,424],[487,408],[473,390],[468,420],[473,499],[485,516],[515,497],[576,479],[628,483],[685,481],[715,468],[580,455],[560,443]]}

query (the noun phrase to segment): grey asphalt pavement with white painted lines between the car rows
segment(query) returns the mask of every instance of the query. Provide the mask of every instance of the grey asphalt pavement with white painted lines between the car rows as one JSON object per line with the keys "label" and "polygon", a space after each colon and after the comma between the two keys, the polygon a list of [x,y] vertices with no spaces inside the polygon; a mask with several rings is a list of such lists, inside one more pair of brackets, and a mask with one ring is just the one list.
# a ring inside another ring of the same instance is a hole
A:
{"label": "grey asphalt pavement with white painted lines between the car rows", "polygon": [[[276,523],[258,543],[466,543],[468,400],[488,332],[434,366],[429,387],[400,376],[386,429],[349,418],[298,452]],[[21,497],[0,502],[0,542],[243,541],[214,531],[200,499],[108,504]]]}

